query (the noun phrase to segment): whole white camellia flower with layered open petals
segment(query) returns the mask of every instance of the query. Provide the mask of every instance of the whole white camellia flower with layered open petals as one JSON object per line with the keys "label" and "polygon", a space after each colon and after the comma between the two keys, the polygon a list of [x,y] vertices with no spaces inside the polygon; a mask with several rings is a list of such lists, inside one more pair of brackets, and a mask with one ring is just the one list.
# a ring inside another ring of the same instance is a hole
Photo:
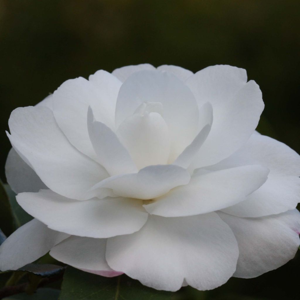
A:
{"label": "whole white camellia flower with layered open petals", "polygon": [[50,250],[155,289],[213,289],[292,259],[300,157],[255,131],[246,71],[128,66],[67,80],[11,113],[6,174],[35,219],[0,248],[15,270]]}

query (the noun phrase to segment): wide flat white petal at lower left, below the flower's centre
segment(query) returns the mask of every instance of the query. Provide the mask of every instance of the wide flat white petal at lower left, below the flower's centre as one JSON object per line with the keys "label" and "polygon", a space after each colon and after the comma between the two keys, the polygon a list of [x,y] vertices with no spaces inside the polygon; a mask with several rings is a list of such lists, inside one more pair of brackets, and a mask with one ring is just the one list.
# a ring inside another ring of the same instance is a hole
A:
{"label": "wide flat white petal at lower left, below the flower's centre", "polygon": [[17,202],[49,228],[72,235],[107,238],[139,230],[148,214],[142,201],[126,198],[105,198],[77,201],[51,190],[20,193]]}

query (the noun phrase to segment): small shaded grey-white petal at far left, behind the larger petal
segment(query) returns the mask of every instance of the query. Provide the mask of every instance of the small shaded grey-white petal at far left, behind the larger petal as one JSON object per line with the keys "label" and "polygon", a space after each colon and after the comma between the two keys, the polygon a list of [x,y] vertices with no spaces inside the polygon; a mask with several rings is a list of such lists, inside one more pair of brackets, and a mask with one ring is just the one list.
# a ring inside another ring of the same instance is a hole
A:
{"label": "small shaded grey-white petal at far left, behind the larger petal", "polygon": [[25,161],[11,148],[5,163],[5,175],[10,188],[16,193],[38,192],[46,189],[40,177],[26,164]]}

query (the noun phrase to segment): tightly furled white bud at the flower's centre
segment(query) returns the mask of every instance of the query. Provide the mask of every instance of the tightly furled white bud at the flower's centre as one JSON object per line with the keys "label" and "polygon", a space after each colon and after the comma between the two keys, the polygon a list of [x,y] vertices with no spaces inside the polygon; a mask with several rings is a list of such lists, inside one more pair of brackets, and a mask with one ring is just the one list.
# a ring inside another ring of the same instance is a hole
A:
{"label": "tightly furled white bud at the flower's centre", "polygon": [[133,114],[122,122],[117,135],[139,170],[150,165],[167,164],[169,130],[159,113]]}

